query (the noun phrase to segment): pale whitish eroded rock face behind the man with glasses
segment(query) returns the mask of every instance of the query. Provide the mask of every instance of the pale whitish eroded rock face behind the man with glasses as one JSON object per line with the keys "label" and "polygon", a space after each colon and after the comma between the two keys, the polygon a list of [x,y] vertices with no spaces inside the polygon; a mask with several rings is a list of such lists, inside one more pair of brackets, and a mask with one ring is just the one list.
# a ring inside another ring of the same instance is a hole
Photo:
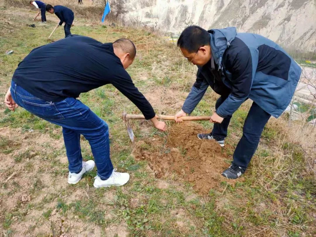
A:
{"label": "pale whitish eroded rock face behind the man with glasses", "polygon": [[128,0],[125,20],[180,33],[189,24],[205,29],[237,27],[285,47],[316,50],[315,0]]}

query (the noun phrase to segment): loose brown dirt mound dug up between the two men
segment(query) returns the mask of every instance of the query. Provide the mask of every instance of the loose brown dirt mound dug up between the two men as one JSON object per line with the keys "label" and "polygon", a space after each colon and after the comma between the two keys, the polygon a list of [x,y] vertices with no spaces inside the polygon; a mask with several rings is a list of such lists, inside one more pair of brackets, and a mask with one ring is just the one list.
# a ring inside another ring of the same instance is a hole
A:
{"label": "loose brown dirt mound dug up between the two men", "polygon": [[225,160],[230,158],[215,141],[199,140],[198,132],[203,132],[199,125],[175,124],[167,138],[156,136],[137,142],[133,154],[137,160],[149,161],[156,178],[176,172],[192,182],[195,190],[207,194],[210,189],[218,189],[221,181],[228,181],[221,173],[229,166]]}

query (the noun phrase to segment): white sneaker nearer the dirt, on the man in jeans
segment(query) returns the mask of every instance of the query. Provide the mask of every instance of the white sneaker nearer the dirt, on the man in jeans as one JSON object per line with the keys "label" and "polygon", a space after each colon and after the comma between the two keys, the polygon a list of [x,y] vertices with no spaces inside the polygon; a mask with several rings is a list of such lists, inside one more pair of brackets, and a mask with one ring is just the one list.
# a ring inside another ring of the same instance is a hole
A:
{"label": "white sneaker nearer the dirt, on the man in jeans", "polygon": [[117,168],[113,169],[111,176],[106,180],[102,180],[99,175],[95,176],[93,186],[95,188],[101,188],[125,185],[130,179],[130,175],[128,173],[116,172],[116,170]]}

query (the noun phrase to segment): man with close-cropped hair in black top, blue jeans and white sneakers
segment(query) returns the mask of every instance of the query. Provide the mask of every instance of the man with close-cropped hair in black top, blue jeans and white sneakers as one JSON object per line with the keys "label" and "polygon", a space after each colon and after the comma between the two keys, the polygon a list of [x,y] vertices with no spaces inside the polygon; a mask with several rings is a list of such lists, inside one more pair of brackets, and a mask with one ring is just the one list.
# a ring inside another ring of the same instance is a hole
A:
{"label": "man with close-cropped hair in black top, blue jeans and white sneakers", "polygon": [[[103,44],[89,37],[70,35],[33,49],[15,70],[4,102],[10,110],[14,111],[19,105],[62,126],[69,161],[69,184],[78,183],[84,173],[94,168],[94,161],[96,188],[124,185],[130,178],[128,173],[113,169],[108,126],[76,99],[80,93],[112,84],[157,129],[166,130],[165,123],[155,118],[152,106],[125,70],[133,63],[135,55],[135,45],[128,39]],[[81,134],[89,141],[94,161],[82,161]]]}

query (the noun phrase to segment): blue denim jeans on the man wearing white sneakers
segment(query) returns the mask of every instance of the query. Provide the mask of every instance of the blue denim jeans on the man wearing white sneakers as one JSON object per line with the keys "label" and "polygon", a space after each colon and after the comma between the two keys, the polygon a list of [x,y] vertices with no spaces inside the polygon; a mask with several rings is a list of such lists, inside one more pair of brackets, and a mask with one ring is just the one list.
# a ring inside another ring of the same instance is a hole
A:
{"label": "blue denim jeans on the man wearing white sneakers", "polygon": [[77,173],[82,169],[80,134],[89,142],[94,161],[101,179],[111,176],[113,165],[110,159],[109,129],[88,106],[75,98],[59,102],[45,101],[28,93],[11,82],[12,98],[28,112],[63,127],[64,143],[69,162],[69,171]]}

